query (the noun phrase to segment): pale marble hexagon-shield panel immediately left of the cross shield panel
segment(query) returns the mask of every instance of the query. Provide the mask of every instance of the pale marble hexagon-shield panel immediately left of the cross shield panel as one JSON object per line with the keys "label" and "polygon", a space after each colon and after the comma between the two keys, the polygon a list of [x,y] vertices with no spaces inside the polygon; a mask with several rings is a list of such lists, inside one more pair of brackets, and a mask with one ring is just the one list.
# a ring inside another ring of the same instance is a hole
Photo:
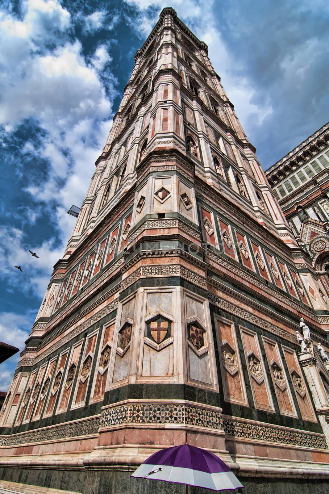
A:
{"label": "pale marble hexagon-shield panel immediately left of the cross shield panel", "polygon": [[133,325],[135,317],[135,304],[136,296],[132,296],[125,299],[119,304],[117,322],[115,333],[115,356],[114,356],[114,368],[112,387],[115,385],[123,385],[123,383],[128,382],[128,376],[130,373],[131,364],[131,342],[133,339]]}

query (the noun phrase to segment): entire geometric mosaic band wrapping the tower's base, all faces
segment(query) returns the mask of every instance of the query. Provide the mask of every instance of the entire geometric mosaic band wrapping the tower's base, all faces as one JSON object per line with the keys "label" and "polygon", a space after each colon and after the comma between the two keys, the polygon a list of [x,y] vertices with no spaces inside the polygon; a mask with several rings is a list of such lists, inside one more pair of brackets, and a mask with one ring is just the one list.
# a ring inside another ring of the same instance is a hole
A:
{"label": "entire geometric mosaic band wrapping the tower's base, all faces", "polygon": [[188,402],[123,403],[107,407],[101,416],[69,424],[45,427],[20,434],[1,435],[0,446],[41,443],[97,434],[102,427],[125,424],[194,425],[224,431],[226,436],[290,446],[328,450],[323,434],[303,433],[267,425],[223,418],[220,409],[207,409]]}

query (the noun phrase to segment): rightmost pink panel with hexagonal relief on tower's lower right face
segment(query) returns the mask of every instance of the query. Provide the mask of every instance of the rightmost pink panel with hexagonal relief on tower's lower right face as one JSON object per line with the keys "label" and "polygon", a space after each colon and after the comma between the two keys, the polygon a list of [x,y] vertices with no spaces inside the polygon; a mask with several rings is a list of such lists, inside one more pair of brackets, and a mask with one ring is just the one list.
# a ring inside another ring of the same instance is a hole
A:
{"label": "rightmost pink panel with hexagonal relief on tower's lower right face", "polygon": [[291,350],[291,348],[283,345],[282,348],[287,362],[288,371],[290,373],[291,383],[294,388],[295,396],[297,398],[301,417],[303,420],[316,422],[317,418],[305,384],[296,352]]}

